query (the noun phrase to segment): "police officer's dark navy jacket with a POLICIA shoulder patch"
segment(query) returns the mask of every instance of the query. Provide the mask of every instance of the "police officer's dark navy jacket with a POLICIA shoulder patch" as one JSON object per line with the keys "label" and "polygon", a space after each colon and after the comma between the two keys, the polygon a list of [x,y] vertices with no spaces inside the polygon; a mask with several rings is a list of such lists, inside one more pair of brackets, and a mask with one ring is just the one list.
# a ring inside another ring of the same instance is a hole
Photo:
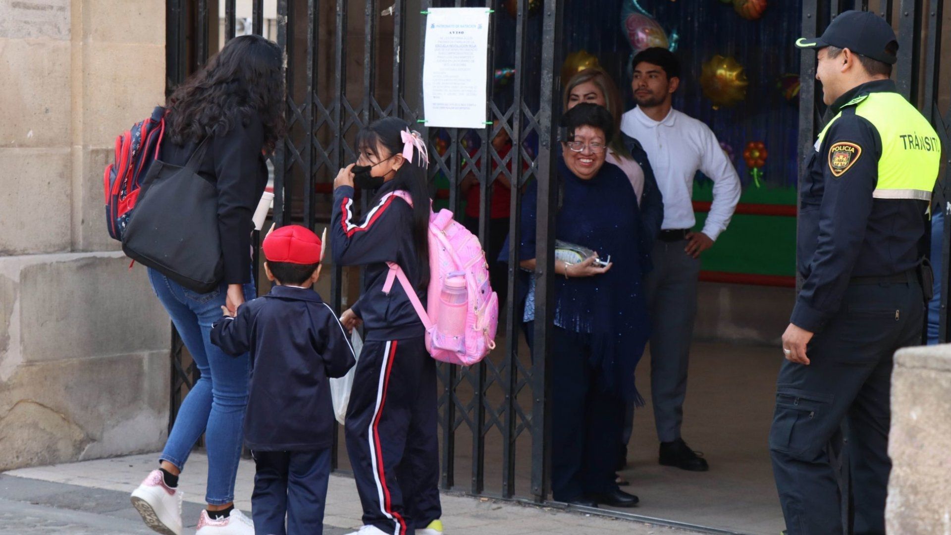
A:
{"label": "police officer's dark navy jacket with a POLICIA shoulder patch", "polygon": [[[826,116],[842,116],[810,150],[800,183],[797,262],[804,282],[790,322],[819,332],[839,311],[851,277],[889,276],[918,266],[924,254],[927,201],[873,197],[883,140],[855,108],[863,95],[895,92],[881,80],[846,91]],[[895,140],[892,140],[895,142]],[[847,144],[861,149],[835,173],[830,152]]]}

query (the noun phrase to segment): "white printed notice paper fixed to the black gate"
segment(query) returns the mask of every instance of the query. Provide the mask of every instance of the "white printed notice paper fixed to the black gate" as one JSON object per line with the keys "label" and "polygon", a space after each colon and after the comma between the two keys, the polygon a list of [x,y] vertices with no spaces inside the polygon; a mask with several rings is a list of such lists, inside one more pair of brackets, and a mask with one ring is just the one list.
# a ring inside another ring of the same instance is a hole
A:
{"label": "white printed notice paper fixed to the black gate", "polygon": [[485,128],[489,10],[430,8],[422,68],[427,127]]}

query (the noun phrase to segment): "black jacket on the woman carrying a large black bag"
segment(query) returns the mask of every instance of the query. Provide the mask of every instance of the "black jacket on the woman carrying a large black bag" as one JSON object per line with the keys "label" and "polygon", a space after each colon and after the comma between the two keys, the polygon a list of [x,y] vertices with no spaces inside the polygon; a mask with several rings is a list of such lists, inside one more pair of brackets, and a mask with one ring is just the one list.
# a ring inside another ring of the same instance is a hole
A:
{"label": "black jacket on the woman carrying a large black bag", "polygon": [[[251,216],[267,186],[262,148],[264,128],[253,115],[205,145],[198,173],[218,188],[218,229],[221,233],[225,284],[251,282]],[[198,144],[175,145],[165,136],[159,159],[184,166]]]}

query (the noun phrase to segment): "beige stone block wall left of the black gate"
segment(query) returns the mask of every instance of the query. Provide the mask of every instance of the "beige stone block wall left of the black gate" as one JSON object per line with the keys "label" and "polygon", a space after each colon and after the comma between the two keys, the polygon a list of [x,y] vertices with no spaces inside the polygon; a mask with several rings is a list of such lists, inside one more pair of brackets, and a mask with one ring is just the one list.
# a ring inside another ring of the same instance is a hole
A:
{"label": "beige stone block wall left of the black gate", "polygon": [[164,91],[165,2],[0,0],[0,470],[165,440],[168,318],[102,189]]}

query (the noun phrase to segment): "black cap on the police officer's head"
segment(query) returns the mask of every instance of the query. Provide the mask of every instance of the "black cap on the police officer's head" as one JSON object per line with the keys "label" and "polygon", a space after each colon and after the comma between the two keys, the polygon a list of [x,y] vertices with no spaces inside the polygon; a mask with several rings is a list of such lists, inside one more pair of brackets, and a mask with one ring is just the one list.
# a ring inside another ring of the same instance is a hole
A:
{"label": "black cap on the police officer's head", "polygon": [[[888,45],[895,43],[889,51]],[[836,47],[852,50],[865,57],[879,60],[889,65],[898,61],[898,39],[895,31],[885,20],[870,11],[843,11],[829,24],[822,37],[800,37],[796,39],[800,49],[822,49]]]}

